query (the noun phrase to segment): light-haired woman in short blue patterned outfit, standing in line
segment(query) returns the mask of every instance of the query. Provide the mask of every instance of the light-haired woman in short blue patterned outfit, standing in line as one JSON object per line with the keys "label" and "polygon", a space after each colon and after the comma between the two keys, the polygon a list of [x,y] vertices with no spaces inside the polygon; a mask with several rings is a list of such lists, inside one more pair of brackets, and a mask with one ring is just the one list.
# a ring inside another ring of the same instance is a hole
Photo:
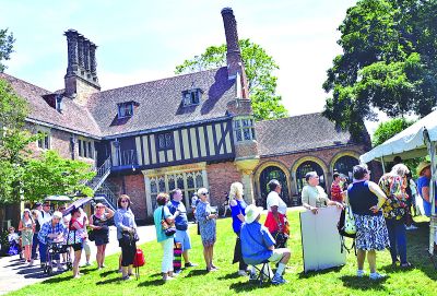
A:
{"label": "light-haired woman in short blue patterned outfit, standing in line", "polygon": [[200,237],[203,244],[203,257],[206,263],[206,271],[218,270],[213,263],[214,244],[216,239],[216,223],[218,217],[216,210],[210,205],[206,188],[198,190],[200,202],[196,209],[196,218],[199,221]]}

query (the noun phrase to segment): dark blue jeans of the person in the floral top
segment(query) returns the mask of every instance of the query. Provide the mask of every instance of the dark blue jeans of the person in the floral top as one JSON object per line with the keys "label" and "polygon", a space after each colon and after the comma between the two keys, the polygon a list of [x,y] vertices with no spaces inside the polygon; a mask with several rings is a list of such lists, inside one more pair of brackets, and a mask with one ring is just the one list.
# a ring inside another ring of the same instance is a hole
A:
{"label": "dark blue jeans of the person in the floral top", "polygon": [[391,261],[394,263],[399,254],[401,264],[405,264],[408,261],[404,220],[386,218],[386,224],[389,232]]}

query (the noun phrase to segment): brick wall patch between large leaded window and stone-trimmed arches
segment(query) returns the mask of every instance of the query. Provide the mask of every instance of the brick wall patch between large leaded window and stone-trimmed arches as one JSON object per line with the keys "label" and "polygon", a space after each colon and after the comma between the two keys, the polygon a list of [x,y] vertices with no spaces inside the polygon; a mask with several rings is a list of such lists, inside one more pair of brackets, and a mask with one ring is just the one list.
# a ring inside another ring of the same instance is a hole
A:
{"label": "brick wall patch between large leaded window and stone-trimmed arches", "polygon": [[206,165],[206,174],[212,205],[222,204],[224,192],[229,192],[233,182],[241,181],[241,174],[233,162]]}

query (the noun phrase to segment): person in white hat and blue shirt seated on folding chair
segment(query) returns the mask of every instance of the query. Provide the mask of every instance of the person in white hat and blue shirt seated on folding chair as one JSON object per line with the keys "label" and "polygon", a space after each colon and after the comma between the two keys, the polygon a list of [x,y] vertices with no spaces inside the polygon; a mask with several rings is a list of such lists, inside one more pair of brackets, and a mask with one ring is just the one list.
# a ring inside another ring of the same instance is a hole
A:
{"label": "person in white hat and blue shirt seated on folding chair", "polygon": [[285,284],[282,277],[285,265],[290,260],[291,251],[287,248],[275,249],[274,239],[269,229],[259,223],[262,208],[250,204],[246,208],[246,217],[241,225],[241,253],[247,264],[257,265],[265,260],[277,263],[277,270],[272,279],[272,284]]}

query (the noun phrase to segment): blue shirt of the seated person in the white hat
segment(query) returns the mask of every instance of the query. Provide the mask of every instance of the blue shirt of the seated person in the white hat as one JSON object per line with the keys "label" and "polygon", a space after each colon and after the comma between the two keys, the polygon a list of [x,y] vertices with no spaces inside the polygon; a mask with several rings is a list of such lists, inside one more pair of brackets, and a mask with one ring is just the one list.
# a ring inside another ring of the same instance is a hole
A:
{"label": "blue shirt of the seated person in the white hat", "polygon": [[247,264],[260,264],[272,256],[273,251],[268,248],[275,241],[269,229],[258,221],[250,224],[244,223],[239,237],[243,258]]}

